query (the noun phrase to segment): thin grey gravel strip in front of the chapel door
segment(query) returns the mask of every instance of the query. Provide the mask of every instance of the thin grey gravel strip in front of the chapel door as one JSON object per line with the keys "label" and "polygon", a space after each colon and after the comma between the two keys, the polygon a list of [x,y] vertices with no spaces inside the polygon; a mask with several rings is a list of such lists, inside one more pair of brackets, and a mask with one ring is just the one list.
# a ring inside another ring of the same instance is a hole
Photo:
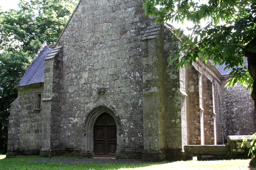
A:
{"label": "thin grey gravel strip in front of the chapel door", "polygon": [[34,159],[29,162],[59,162],[59,163],[152,163],[146,162],[139,159],[109,159],[109,158],[42,158],[42,159]]}

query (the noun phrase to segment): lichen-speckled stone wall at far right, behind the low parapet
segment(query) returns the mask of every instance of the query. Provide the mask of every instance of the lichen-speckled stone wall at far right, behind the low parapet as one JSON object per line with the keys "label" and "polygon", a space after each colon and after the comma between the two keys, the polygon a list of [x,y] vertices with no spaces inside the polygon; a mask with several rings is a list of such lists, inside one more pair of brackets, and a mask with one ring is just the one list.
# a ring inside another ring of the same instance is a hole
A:
{"label": "lichen-speckled stone wall at far right, behind the low parapet", "polygon": [[224,142],[227,142],[227,136],[251,135],[256,132],[254,105],[250,92],[245,91],[246,88],[240,85],[227,89],[224,87],[226,83],[227,80],[223,80],[221,84]]}

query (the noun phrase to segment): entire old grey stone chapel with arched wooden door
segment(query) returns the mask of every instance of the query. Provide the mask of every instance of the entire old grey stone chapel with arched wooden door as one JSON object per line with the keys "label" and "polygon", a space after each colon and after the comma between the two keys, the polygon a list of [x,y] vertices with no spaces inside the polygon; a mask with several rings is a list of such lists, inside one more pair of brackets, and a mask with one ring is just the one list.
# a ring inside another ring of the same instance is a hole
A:
{"label": "entire old grey stone chapel with arched wooden door", "polygon": [[8,156],[184,158],[185,145],[255,133],[249,92],[230,70],[168,66],[180,40],[142,0],[80,0],[55,44],[43,43],[11,104]]}

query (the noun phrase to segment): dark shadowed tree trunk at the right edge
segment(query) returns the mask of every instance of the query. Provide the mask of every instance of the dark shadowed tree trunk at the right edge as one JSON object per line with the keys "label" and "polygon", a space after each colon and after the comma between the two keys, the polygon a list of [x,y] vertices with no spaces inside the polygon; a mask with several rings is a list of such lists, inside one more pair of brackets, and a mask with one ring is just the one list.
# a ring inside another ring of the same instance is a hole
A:
{"label": "dark shadowed tree trunk at the right edge", "polygon": [[248,71],[253,78],[252,85],[252,94],[251,97],[254,100],[254,112],[256,113],[256,53],[251,52],[252,49],[256,47],[256,38],[253,38],[251,42],[249,42],[245,48],[243,49],[245,56],[248,61]]}

